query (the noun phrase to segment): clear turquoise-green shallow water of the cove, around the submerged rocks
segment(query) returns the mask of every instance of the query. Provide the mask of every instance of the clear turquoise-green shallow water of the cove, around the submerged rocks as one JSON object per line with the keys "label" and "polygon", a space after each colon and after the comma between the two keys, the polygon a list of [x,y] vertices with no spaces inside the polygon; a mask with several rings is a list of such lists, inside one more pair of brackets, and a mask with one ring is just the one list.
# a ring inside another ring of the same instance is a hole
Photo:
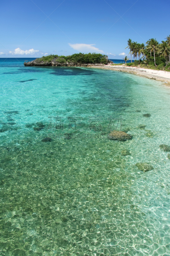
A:
{"label": "clear turquoise-green shallow water of the cove, around the submerged rocks", "polygon": [[[169,89],[122,72],[23,62],[0,65],[0,254],[170,255],[170,161],[159,149],[170,145]],[[49,116],[63,129],[51,131]],[[122,116],[132,140],[107,140],[110,116]]]}

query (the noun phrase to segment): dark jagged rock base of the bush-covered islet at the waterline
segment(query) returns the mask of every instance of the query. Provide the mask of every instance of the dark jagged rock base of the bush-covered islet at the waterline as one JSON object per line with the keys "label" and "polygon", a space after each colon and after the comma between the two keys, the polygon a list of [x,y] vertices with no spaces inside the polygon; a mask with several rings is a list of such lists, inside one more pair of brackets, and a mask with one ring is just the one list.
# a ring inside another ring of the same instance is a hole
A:
{"label": "dark jagged rock base of the bush-covered islet at the waterline", "polygon": [[[109,63],[110,64],[110,63]],[[38,62],[37,60],[32,60],[29,62],[24,62],[25,66],[31,66],[31,67],[92,67],[92,66],[107,66],[102,63],[97,63],[97,64],[83,64],[83,63],[73,63],[73,62],[65,62],[65,63],[59,63],[55,60],[52,61],[41,61]]]}

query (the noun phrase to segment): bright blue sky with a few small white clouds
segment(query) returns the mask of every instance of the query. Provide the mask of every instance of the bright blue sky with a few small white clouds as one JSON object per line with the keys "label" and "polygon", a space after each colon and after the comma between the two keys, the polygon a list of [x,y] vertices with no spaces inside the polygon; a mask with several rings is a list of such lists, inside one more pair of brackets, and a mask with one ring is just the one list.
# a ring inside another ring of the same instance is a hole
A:
{"label": "bright blue sky with a few small white clouds", "polygon": [[6,0],[0,57],[99,52],[122,59],[129,38],[161,42],[170,34],[169,8],[169,0]]}

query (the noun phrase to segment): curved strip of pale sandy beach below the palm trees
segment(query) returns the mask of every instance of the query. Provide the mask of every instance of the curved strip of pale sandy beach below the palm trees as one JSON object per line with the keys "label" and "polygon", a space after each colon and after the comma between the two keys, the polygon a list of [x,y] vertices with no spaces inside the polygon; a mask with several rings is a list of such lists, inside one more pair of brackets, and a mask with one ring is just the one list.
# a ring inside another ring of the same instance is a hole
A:
{"label": "curved strip of pale sandy beach below the palm trees", "polygon": [[137,76],[142,76],[149,79],[158,80],[164,82],[166,86],[170,86],[170,72],[163,70],[154,70],[148,68],[137,68],[137,67],[125,67],[125,66],[92,66],[92,68],[110,69],[114,71],[122,71],[131,73]]}

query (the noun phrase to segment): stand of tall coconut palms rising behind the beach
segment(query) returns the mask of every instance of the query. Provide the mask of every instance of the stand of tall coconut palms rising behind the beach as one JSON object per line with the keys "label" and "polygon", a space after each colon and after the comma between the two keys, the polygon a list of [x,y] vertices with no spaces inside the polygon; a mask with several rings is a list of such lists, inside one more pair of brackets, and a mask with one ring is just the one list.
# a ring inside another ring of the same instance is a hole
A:
{"label": "stand of tall coconut palms rising behind the beach", "polygon": [[[162,41],[162,43],[159,44],[156,38],[151,38],[146,42],[146,45],[134,41],[132,42],[132,40],[129,39],[126,48],[129,48],[130,50],[129,54],[131,55],[131,62],[133,55],[134,60],[137,60],[137,57],[139,58],[139,64],[141,61],[146,65],[154,61],[155,67],[163,63],[167,66],[168,62],[170,63],[170,35],[165,39],[165,41]],[[129,60],[127,56],[125,59],[126,61]]]}

